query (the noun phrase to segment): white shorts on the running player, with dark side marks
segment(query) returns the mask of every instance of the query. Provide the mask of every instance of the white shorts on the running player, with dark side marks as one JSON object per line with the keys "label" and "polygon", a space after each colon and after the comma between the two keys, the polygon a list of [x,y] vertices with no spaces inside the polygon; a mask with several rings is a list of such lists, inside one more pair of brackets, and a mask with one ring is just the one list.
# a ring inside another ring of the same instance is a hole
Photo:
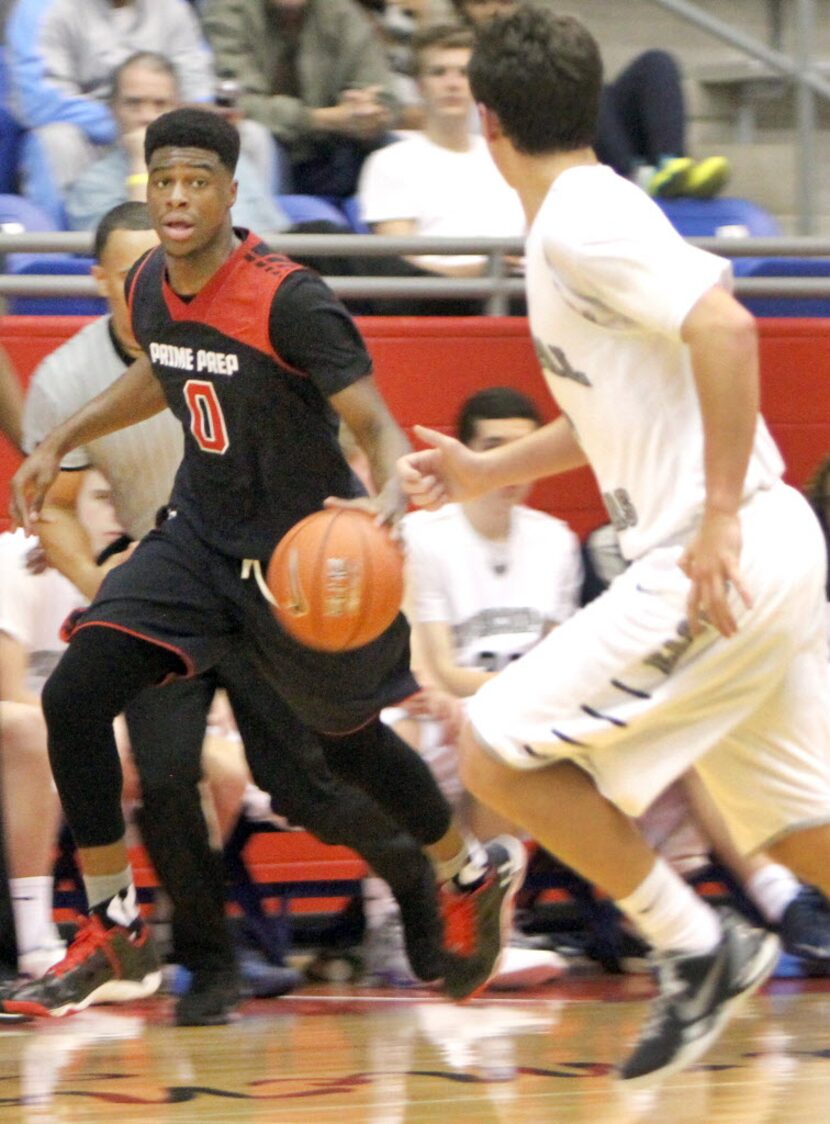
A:
{"label": "white shorts on the running player, with dark side marks", "polygon": [[736,636],[688,636],[683,546],[652,551],[478,691],[479,741],[515,769],[574,761],[632,816],[696,764],[743,851],[830,822],[821,531],[783,483],[741,526]]}

